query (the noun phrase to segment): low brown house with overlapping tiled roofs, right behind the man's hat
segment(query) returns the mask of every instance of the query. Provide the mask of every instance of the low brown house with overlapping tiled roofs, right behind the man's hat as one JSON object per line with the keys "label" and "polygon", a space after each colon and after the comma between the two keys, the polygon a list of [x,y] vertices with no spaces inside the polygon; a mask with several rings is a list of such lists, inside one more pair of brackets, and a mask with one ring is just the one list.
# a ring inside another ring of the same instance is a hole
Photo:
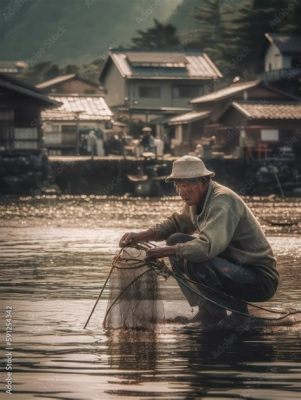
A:
{"label": "low brown house with overlapping tiled roofs, right behind the man's hat", "polygon": [[170,118],[177,154],[213,136],[213,157],[250,157],[277,152],[300,140],[301,103],[260,81],[238,82],[191,101],[194,110]]}

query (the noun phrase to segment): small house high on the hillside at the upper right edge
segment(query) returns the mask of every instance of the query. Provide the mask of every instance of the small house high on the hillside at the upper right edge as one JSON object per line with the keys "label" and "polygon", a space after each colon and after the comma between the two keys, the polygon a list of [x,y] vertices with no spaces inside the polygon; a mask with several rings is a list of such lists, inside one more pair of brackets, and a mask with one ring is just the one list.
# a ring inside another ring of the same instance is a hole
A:
{"label": "small house high on the hillside at the upper right edge", "polygon": [[301,97],[301,36],[266,33],[264,73],[260,79]]}

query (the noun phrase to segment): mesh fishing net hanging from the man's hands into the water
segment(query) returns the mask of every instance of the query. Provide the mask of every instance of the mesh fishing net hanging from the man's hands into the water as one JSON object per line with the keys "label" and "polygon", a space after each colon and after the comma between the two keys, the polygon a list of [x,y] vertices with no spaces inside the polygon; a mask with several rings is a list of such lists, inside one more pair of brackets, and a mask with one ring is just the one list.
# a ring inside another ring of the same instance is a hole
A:
{"label": "mesh fishing net hanging from the man's hands into the water", "polygon": [[145,263],[145,255],[146,249],[126,247],[116,256],[105,328],[153,329],[164,321],[159,275]]}

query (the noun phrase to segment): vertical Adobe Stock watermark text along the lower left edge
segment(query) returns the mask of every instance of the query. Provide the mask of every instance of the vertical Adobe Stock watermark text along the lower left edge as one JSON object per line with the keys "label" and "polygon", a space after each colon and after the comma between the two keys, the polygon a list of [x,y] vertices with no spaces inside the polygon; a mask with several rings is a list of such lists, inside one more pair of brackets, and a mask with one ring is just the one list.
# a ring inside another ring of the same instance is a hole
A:
{"label": "vertical Adobe Stock watermark text along the lower left edge", "polygon": [[5,307],[5,333],[4,333],[4,372],[6,373],[4,381],[5,393],[13,393],[13,307]]}

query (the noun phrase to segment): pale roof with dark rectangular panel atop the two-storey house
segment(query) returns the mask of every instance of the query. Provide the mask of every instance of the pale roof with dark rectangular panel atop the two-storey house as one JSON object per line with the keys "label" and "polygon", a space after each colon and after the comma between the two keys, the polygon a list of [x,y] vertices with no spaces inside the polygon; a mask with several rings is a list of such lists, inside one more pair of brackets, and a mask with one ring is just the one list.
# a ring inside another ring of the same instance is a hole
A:
{"label": "pale roof with dark rectangular panel atop the two-storey house", "polygon": [[217,79],[222,75],[201,51],[159,52],[111,50],[100,80],[112,59],[120,74],[129,79]]}

